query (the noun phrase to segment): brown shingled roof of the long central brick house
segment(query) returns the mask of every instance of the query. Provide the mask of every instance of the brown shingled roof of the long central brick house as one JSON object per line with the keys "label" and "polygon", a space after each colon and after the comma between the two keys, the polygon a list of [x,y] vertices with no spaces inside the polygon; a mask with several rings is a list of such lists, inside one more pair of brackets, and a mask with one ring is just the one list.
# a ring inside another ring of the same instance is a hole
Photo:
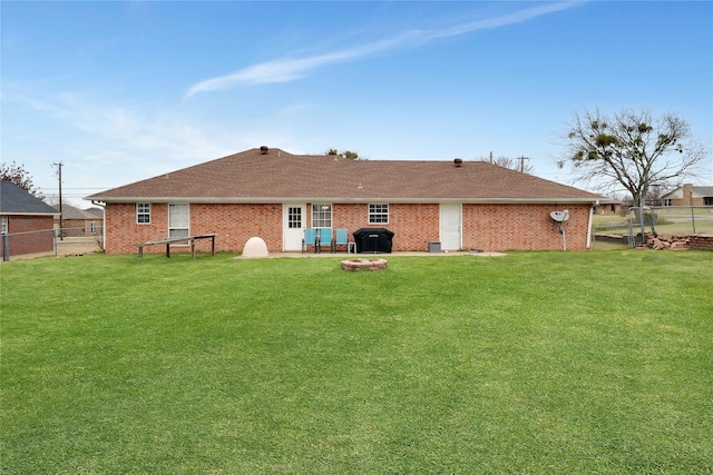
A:
{"label": "brown shingled roof of the long central brick house", "polygon": [[87,197],[105,202],[593,202],[604,197],[486,161],[350,160],[255,148]]}

